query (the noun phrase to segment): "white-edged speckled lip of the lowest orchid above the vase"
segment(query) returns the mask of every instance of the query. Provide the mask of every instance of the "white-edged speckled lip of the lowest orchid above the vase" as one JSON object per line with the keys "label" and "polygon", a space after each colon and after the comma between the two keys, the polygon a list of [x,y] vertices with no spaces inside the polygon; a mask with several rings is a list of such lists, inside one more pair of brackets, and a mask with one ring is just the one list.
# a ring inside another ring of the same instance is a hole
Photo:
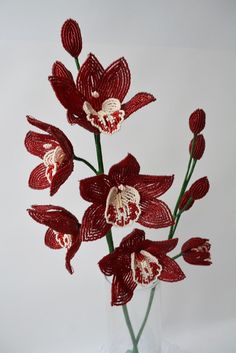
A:
{"label": "white-edged speckled lip of the lowest orchid above the vase", "polygon": [[131,270],[134,282],[147,286],[158,280],[162,266],[154,255],[141,250],[139,253],[131,254]]}

